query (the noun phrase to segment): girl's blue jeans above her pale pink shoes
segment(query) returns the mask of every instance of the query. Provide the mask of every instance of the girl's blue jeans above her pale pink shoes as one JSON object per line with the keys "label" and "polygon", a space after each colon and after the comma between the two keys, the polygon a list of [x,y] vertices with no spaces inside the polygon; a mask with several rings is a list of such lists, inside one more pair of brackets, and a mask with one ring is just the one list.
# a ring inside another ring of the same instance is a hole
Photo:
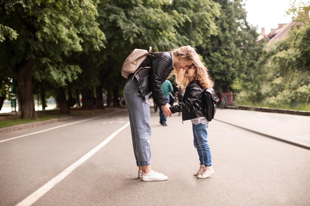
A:
{"label": "girl's blue jeans above her pale pink shoes", "polygon": [[212,156],[207,141],[208,124],[193,124],[194,147],[197,149],[200,164],[212,165]]}

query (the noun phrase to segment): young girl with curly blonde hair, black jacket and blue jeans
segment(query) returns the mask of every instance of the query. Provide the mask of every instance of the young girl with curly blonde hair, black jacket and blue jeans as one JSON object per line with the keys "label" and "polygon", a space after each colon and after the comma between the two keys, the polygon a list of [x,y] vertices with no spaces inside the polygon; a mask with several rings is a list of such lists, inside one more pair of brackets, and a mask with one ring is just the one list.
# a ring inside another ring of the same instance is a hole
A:
{"label": "young girl with curly blonde hair, black jacket and blue jeans", "polygon": [[[193,61],[191,66],[181,71],[175,71],[176,83],[179,88],[186,86],[183,100],[172,107],[171,113],[182,112],[182,119],[191,120],[194,134],[194,147],[197,149],[200,167],[194,174],[197,178],[204,179],[214,173],[212,156],[207,141],[208,121],[201,110],[201,93],[204,88],[213,87],[214,82],[208,75],[207,68],[200,61]],[[183,78],[182,78],[183,77]]]}

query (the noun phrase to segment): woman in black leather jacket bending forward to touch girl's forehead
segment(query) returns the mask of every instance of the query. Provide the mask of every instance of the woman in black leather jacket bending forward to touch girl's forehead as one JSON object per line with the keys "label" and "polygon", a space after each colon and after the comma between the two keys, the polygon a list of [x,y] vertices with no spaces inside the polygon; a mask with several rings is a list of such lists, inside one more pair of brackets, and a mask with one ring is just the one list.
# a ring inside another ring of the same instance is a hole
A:
{"label": "woman in black leather jacket bending forward to touch girl's forehead", "polygon": [[193,64],[199,58],[191,46],[182,46],[172,51],[149,54],[135,76],[132,74],[124,87],[124,99],[128,111],[131,136],[136,163],[139,167],[138,177],[143,181],[163,181],[168,177],[151,168],[151,126],[149,98],[153,95],[155,104],[161,107],[165,116],[170,114],[170,105],[166,102],[161,84],[172,70],[181,70]]}

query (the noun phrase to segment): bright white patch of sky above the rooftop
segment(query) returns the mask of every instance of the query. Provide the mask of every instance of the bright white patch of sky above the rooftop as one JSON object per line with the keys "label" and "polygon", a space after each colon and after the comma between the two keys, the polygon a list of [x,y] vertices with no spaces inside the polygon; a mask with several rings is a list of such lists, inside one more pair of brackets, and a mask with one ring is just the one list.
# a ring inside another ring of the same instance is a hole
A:
{"label": "bright white patch of sky above the rooftop", "polygon": [[258,33],[265,28],[265,34],[270,29],[278,28],[278,24],[289,23],[292,18],[285,14],[292,0],[244,0],[246,3],[247,21],[258,26]]}

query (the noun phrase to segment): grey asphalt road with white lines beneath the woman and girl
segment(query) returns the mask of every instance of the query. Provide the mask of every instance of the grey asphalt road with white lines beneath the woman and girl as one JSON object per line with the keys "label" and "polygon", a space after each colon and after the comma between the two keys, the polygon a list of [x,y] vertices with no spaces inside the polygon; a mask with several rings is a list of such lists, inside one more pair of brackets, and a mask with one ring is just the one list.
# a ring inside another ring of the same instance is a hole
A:
{"label": "grey asphalt road with white lines beneath the woman and girl", "polygon": [[1,135],[0,206],[310,206],[310,150],[213,120],[215,173],[197,179],[190,121],[164,127],[151,111],[152,167],[167,181],[137,178],[127,112],[107,110]]}

